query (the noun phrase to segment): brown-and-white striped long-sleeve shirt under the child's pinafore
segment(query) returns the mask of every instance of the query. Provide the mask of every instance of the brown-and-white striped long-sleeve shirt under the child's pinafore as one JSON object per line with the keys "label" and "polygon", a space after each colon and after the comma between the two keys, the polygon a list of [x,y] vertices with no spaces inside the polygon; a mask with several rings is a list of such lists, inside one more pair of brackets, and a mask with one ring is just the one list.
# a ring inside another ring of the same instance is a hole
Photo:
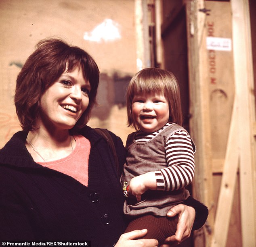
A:
{"label": "brown-and-white striped long-sleeve shirt under the child's pinafore", "polygon": [[[135,139],[137,142],[149,141],[168,125],[149,135],[138,133]],[[157,190],[174,191],[186,187],[192,182],[195,172],[191,137],[186,131],[176,131],[166,141],[165,151],[168,166],[155,171]]]}

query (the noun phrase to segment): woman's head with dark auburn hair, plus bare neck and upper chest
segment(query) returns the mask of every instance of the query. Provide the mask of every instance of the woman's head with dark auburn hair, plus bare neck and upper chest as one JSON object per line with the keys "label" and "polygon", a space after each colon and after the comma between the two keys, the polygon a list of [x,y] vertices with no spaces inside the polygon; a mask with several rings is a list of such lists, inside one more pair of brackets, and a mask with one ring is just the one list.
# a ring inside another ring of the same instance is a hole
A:
{"label": "woman's head with dark auburn hair, plus bare neck and upper chest", "polygon": [[59,39],[38,43],[18,75],[15,93],[17,115],[28,131],[25,144],[35,161],[73,151],[76,138],[70,131],[86,124],[98,83],[99,69],[87,52]]}

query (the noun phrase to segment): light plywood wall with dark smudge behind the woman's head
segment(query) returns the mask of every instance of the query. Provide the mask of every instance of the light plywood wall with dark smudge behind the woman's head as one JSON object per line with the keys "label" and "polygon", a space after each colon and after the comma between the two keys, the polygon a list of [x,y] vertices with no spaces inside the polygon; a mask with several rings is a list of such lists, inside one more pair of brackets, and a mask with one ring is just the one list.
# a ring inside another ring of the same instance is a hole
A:
{"label": "light plywood wall with dark smudge behind the woman's head", "polygon": [[[90,125],[108,128],[126,140],[131,130],[126,128],[124,92],[137,71],[134,8],[134,0],[0,1],[0,147],[20,129],[13,104],[17,74],[36,43],[54,35],[88,51],[99,65],[99,106]],[[94,35],[93,40],[92,31],[107,25],[107,19],[120,37],[97,41]],[[85,34],[91,40],[84,39]]]}

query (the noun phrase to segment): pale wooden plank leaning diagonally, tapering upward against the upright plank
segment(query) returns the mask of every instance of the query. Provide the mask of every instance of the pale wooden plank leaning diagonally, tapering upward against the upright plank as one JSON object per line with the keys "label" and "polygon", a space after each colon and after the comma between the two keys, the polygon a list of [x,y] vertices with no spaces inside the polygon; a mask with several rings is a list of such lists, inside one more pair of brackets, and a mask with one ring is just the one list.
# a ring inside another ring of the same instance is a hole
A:
{"label": "pale wooden plank leaning diagonally, tapering upward against the upright plank", "polygon": [[211,247],[226,246],[239,160],[238,118],[238,103],[235,98]]}

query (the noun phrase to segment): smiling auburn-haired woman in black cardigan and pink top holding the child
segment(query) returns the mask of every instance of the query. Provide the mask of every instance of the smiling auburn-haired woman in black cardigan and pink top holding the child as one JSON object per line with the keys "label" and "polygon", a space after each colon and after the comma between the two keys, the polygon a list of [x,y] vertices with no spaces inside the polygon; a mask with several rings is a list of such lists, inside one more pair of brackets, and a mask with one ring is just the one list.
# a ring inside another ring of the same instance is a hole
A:
{"label": "smiling auburn-haired woman in black cardigan and pink top holding the child", "polygon": [[[98,83],[92,57],[60,39],[39,42],[25,62],[15,92],[23,131],[0,150],[1,240],[157,245],[154,239],[133,240],[146,230],[122,235],[120,174],[105,139],[86,126]],[[111,136],[122,170],[126,150],[119,137]],[[191,197],[185,204],[170,212],[180,220],[168,241],[181,241],[192,226],[204,224],[206,207]]]}

